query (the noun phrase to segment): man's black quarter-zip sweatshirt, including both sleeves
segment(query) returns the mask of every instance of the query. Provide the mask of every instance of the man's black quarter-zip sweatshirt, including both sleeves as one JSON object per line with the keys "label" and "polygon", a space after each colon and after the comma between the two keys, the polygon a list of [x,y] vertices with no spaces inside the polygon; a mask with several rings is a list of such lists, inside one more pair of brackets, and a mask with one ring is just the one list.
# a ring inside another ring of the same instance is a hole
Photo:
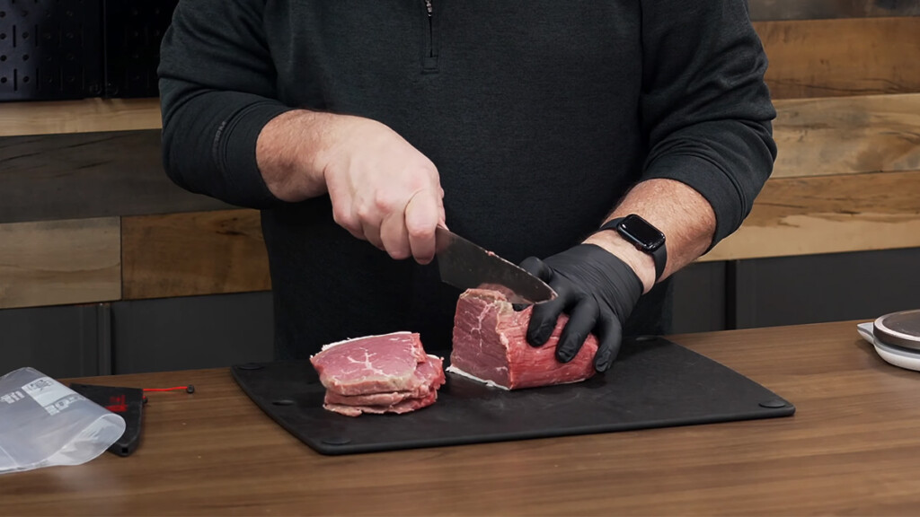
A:
{"label": "man's black quarter-zip sweatshirt, including both sleeves", "polygon": [[451,229],[514,262],[576,245],[649,178],[705,196],[718,242],[776,156],[765,68],[743,0],[182,0],[159,67],[164,162],[262,209],[279,357],[396,330],[438,348],[459,292],[352,237],[328,197],[275,199],[256,163],[268,121],[385,123],[438,167]]}

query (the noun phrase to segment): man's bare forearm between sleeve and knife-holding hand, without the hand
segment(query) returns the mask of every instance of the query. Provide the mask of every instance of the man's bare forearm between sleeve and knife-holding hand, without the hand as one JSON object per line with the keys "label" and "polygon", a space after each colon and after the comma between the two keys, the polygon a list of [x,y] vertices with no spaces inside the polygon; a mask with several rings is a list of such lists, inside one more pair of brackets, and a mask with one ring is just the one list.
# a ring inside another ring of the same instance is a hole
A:
{"label": "man's bare forearm between sleeve and knife-holding hand, without the hand", "polygon": [[262,128],[256,143],[259,172],[282,201],[304,201],[326,193],[321,157],[340,115],[296,109]]}

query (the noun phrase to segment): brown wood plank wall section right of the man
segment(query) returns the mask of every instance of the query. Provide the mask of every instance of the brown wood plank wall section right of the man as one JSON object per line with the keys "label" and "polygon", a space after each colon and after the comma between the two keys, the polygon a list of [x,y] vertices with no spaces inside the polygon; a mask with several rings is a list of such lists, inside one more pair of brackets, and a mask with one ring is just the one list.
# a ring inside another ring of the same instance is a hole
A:
{"label": "brown wood plank wall section right of the man", "polygon": [[701,261],[920,247],[920,17],[760,21],[772,178]]}

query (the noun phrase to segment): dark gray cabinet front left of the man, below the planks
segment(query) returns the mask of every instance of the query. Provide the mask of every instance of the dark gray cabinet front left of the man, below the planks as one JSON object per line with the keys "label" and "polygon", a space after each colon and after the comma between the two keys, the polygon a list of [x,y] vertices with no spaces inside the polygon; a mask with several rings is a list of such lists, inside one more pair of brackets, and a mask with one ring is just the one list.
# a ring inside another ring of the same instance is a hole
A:
{"label": "dark gray cabinet front left of the man, below the planks", "polygon": [[230,366],[272,358],[271,293],[0,310],[0,375]]}

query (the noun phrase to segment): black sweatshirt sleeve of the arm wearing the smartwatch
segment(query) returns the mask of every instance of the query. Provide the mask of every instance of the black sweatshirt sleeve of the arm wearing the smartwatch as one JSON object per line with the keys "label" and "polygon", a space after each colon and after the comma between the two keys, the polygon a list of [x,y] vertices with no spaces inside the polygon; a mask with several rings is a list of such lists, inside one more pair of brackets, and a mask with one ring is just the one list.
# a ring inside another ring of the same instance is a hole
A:
{"label": "black sweatshirt sleeve of the arm wearing the smartwatch", "polygon": [[764,48],[742,0],[643,0],[642,46],[642,178],[702,194],[715,246],[751,212],[776,159]]}

